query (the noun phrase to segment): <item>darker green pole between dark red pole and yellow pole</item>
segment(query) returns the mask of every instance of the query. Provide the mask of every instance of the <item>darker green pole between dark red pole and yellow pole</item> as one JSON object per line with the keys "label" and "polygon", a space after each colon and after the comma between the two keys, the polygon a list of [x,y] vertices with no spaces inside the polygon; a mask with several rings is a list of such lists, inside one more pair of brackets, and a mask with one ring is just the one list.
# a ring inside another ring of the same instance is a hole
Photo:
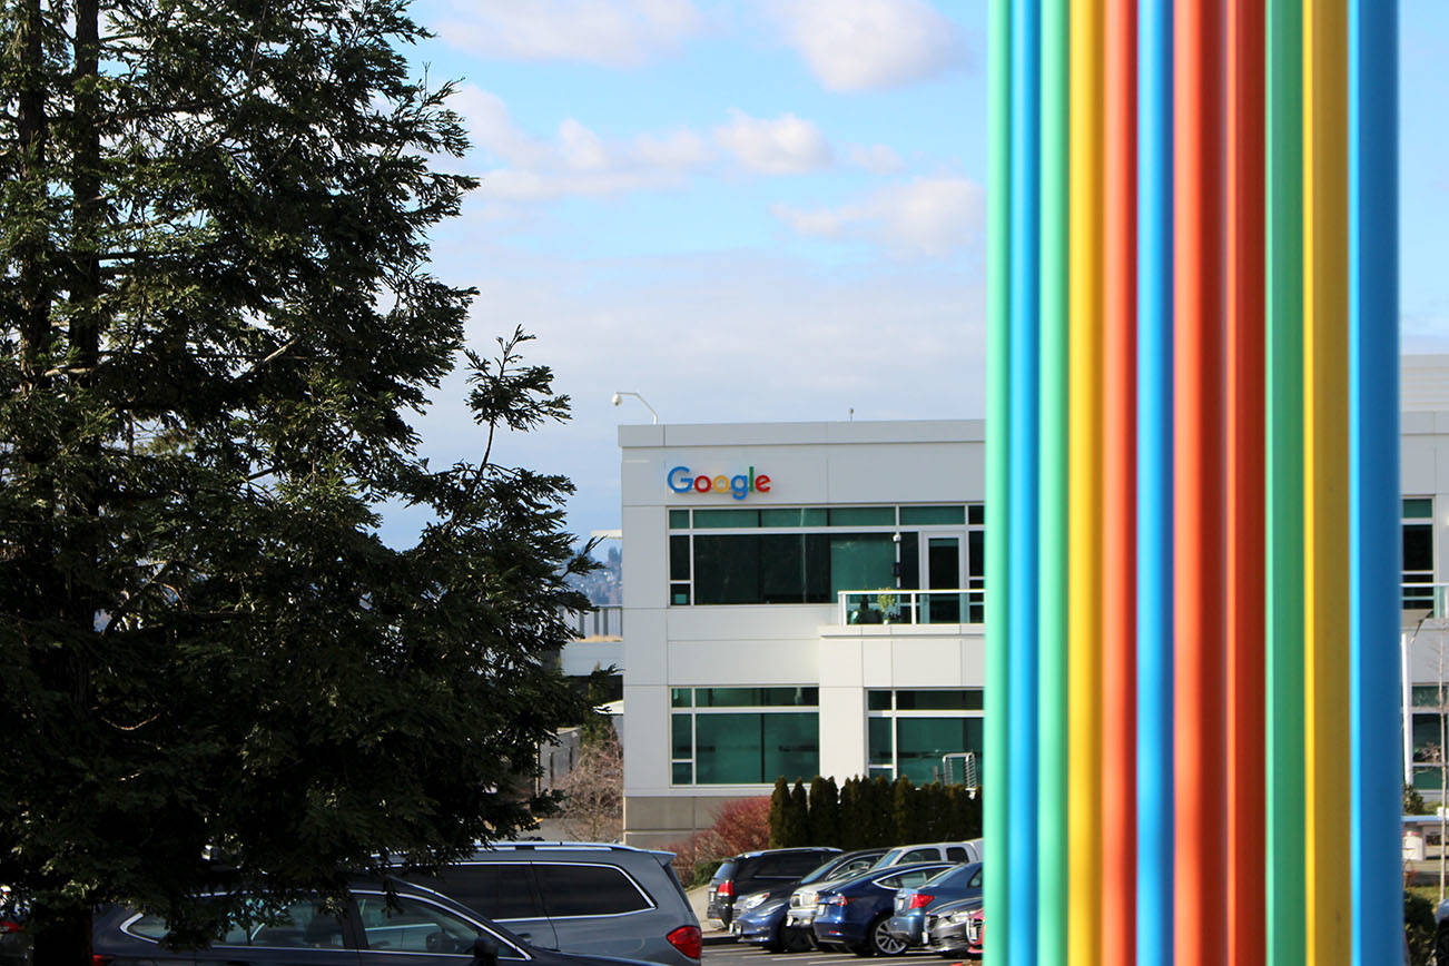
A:
{"label": "darker green pole between dark red pole and yellow pole", "polygon": [[[1303,653],[1303,0],[1268,9],[1268,962],[1307,956]],[[1346,950],[1345,950],[1346,952]]]}

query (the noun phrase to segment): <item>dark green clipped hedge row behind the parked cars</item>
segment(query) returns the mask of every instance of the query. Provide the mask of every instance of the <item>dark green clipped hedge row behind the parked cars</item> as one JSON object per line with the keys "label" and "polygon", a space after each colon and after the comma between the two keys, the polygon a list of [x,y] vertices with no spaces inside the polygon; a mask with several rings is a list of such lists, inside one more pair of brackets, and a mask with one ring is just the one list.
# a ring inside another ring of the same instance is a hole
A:
{"label": "dark green clipped hedge row behind the parked cars", "polygon": [[906,776],[833,778],[794,786],[775,779],[769,798],[769,846],[869,849],[907,841],[959,841],[981,834],[981,794],[961,785],[914,785]]}

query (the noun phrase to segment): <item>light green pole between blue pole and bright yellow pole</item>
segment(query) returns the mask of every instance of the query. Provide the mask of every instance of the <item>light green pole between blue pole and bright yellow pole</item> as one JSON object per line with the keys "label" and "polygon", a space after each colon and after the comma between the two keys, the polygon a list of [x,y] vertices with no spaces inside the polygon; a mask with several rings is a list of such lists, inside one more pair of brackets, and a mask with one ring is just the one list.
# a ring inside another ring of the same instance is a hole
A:
{"label": "light green pole between blue pole and bright yellow pole", "polygon": [[1066,0],[1042,4],[1039,962],[1066,962]]}

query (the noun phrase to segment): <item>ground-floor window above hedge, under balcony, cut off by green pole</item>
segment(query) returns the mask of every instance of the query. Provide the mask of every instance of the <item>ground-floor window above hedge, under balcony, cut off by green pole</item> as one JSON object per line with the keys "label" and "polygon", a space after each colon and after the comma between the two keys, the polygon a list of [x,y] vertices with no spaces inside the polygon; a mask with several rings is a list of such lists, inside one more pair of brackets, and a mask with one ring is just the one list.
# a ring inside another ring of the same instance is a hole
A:
{"label": "ground-floor window above hedge, under balcony, cut off by green pole", "polygon": [[965,779],[962,756],[969,752],[981,759],[980,689],[868,691],[865,707],[872,776],[959,784]]}

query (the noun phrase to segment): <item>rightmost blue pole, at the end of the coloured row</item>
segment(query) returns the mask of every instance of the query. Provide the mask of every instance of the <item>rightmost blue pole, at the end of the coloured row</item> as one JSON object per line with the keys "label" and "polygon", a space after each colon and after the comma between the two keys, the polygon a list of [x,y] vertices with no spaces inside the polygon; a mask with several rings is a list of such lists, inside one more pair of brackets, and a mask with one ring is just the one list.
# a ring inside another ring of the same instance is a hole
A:
{"label": "rightmost blue pole, at the end of the coloured row", "polygon": [[1403,952],[1398,3],[1349,3],[1353,963]]}

